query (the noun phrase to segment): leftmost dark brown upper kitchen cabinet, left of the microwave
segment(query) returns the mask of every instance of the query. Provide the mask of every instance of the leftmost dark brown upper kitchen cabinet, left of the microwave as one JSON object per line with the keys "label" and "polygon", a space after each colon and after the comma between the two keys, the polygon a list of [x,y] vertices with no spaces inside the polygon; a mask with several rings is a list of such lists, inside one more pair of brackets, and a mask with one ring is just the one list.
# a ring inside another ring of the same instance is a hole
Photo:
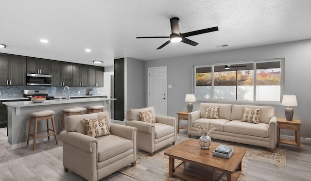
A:
{"label": "leftmost dark brown upper kitchen cabinet, left of the microwave", "polygon": [[26,57],[0,53],[0,85],[26,85]]}

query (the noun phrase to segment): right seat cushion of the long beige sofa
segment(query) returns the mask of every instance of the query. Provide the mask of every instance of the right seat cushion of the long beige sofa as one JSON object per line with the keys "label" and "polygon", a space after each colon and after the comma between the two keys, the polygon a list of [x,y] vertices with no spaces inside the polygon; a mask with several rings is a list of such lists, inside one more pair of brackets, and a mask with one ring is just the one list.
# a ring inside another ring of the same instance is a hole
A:
{"label": "right seat cushion of the long beige sofa", "polygon": [[225,132],[232,132],[237,134],[245,134],[251,136],[269,137],[269,124],[260,123],[252,124],[249,122],[241,122],[240,120],[233,120],[225,124]]}

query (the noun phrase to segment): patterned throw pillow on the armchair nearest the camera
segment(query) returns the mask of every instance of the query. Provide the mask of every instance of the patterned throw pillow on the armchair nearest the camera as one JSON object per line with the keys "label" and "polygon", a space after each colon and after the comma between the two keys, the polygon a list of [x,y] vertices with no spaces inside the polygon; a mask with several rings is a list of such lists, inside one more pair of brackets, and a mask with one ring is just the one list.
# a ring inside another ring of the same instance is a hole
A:
{"label": "patterned throw pillow on the armchair nearest the camera", "polygon": [[100,137],[109,135],[109,129],[106,121],[106,116],[98,119],[84,119],[86,125],[86,135],[92,137]]}

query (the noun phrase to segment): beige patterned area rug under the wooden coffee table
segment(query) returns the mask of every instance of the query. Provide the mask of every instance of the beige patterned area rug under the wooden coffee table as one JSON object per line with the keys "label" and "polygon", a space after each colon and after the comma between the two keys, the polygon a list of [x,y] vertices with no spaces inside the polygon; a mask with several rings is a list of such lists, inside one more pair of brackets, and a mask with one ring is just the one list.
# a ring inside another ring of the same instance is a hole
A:
{"label": "beige patterned area rug under the wooden coffee table", "polygon": [[[249,181],[247,172],[251,171],[251,165],[253,164],[263,162],[275,165],[277,167],[282,167],[286,164],[286,149],[277,148],[275,149],[274,153],[271,153],[267,148],[221,140],[213,140],[213,142],[246,149],[245,156],[242,160],[242,174],[240,175],[238,181]],[[148,156],[147,152],[138,150],[136,165],[133,167],[128,165],[119,170],[119,172],[138,181],[181,181],[178,178],[169,178],[169,159],[168,156],[164,155],[164,152],[172,147],[173,145],[168,145],[156,151],[152,157]],[[175,159],[175,165],[179,164],[180,162],[181,161]],[[218,181],[226,181],[226,175],[224,174]]]}

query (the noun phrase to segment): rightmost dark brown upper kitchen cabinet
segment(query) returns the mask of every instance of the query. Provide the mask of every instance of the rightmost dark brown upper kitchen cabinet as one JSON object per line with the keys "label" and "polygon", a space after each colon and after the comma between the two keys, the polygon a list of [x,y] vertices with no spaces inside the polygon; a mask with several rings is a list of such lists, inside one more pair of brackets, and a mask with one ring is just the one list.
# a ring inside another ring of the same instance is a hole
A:
{"label": "rightmost dark brown upper kitchen cabinet", "polygon": [[89,66],[88,86],[104,87],[104,67]]}

